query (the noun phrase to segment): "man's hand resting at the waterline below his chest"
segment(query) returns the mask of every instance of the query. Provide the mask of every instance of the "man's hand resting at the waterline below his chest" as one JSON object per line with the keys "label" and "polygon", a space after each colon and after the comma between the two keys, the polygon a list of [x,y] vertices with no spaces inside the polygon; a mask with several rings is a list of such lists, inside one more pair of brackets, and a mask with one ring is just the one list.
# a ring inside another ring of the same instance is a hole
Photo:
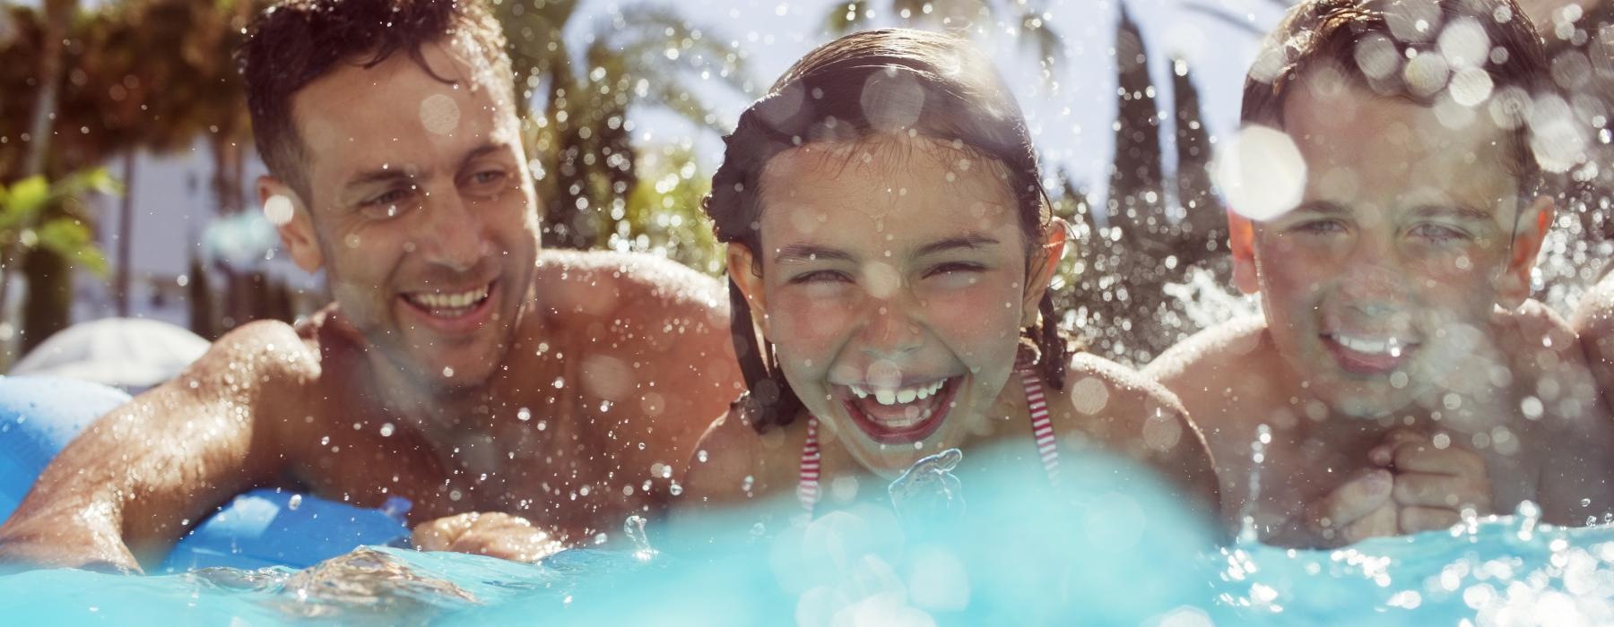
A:
{"label": "man's hand resting at the waterline below his chest", "polygon": [[412,542],[421,551],[475,553],[525,563],[567,548],[528,519],[504,513],[466,513],[423,522],[415,527]]}

